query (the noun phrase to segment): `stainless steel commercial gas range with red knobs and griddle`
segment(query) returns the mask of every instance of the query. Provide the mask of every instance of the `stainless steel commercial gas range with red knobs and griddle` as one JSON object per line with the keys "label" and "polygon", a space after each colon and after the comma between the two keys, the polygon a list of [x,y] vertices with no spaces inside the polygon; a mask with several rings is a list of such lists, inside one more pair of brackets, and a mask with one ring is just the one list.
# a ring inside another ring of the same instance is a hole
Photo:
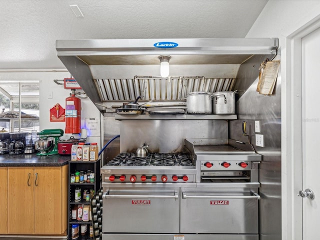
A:
{"label": "stainless steel commercial gas range with red knobs and griddle", "polygon": [[120,153],[101,168],[102,239],[258,239],[261,156],[231,139],[184,143],[183,153]]}

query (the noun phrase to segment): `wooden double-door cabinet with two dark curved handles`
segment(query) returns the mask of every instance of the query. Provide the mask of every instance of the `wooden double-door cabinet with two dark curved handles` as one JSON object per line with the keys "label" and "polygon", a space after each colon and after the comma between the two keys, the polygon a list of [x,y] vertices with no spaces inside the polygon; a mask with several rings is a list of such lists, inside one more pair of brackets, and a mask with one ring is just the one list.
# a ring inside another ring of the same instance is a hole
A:
{"label": "wooden double-door cabinet with two dark curved handles", "polygon": [[67,168],[8,167],[8,234],[66,235]]}

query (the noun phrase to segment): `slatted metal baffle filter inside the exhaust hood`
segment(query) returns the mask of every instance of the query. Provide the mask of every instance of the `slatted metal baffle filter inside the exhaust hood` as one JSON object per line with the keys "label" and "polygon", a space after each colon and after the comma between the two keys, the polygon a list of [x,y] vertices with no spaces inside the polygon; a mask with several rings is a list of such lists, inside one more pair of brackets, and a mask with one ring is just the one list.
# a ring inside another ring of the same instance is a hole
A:
{"label": "slatted metal baffle filter inside the exhaust hood", "polygon": [[235,78],[204,78],[203,76],[151,77],[133,79],[94,79],[101,101],[184,100],[191,91],[232,91]]}

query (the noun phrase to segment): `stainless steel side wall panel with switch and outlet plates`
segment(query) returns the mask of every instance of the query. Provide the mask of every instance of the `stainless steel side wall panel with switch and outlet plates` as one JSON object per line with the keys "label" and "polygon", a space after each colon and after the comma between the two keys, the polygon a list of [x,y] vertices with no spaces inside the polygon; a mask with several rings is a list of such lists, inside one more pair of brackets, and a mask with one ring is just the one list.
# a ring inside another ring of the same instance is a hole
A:
{"label": "stainless steel side wall panel with switch and outlet plates", "polygon": [[[229,137],[250,141],[262,155],[259,164],[259,239],[281,239],[281,78],[278,74],[272,95],[256,92],[258,66],[264,60],[254,56],[242,64],[234,89],[239,90],[236,102],[237,120],[229,121]],[[260,132],[255,132],[255,120]],[[248,136],[242,135],[242,121],[246,121]],[[263,134],[264,147],[255,145],[255,134]]]}

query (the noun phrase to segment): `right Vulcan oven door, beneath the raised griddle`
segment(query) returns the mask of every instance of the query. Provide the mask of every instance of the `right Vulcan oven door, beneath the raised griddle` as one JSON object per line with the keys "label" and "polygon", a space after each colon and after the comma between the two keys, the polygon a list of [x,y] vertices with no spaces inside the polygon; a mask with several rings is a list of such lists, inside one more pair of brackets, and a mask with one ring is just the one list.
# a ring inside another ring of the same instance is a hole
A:
{"label": "right Vulcan oven door, beneath the raised griddle", "polygon": [[257,234],[258,199],[249,188],[182,188],[180,231]]}

